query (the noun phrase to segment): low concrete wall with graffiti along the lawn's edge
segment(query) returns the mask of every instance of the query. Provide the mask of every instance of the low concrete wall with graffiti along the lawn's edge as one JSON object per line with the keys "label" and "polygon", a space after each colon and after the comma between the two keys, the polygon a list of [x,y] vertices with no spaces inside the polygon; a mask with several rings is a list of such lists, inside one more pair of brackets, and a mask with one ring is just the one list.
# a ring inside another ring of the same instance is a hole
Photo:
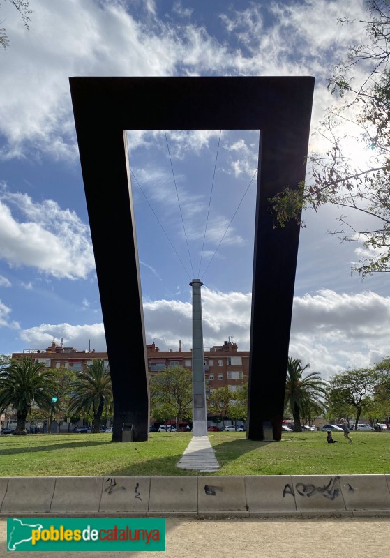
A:
{"label": "low concrete wall with graffiti along the lawn's edge", "polygon": [[0,517],[390,517],[390,475],[0,478]]}

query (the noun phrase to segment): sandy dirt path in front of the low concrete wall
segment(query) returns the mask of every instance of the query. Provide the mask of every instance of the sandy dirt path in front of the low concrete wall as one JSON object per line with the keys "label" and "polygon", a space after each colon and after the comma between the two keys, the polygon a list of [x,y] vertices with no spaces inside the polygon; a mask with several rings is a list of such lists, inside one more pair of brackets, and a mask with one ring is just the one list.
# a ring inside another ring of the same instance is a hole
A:
{"label": "sandy dirt path in front of the low concrete wall", "polygon": [[[389,519],[188,520],[169,518],[165,552],[126,552],[134,558],[389,558]],[[0,520],[0,557],[6,520]],[[114,558],[122,552],[88,552]],[[18,552],[17,557],[81,558],[80,552]]]}

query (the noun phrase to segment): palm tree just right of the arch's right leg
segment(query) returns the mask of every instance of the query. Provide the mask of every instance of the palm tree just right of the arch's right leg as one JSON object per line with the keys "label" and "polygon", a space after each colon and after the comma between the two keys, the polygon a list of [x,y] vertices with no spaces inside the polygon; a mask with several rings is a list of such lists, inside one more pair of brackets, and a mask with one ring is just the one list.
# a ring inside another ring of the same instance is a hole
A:
{"label": "palm tree just right of the arch's right leg", "polygon": [[302,366],[299,359],[288,359],[285,390],[285,409],[290,409],[294,418],[294,432],[301,432],[300,417],[306,414],[310,405],[322,405],[322,398],[326,394],[327,384],[318,372],[311,372],[303,377],[303,372],[310,364]]}

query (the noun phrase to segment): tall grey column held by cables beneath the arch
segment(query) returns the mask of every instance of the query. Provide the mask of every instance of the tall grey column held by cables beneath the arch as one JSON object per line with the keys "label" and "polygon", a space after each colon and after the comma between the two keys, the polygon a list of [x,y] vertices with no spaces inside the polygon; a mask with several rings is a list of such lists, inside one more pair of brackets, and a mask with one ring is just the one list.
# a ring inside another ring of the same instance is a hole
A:
{"label": "tall grey column held by cables beneath the arch", "polygon": [[206,389],[204,383],[204,351],[202,300],[200,279],[190,282],[193,287],[193,436],[207,436]]}

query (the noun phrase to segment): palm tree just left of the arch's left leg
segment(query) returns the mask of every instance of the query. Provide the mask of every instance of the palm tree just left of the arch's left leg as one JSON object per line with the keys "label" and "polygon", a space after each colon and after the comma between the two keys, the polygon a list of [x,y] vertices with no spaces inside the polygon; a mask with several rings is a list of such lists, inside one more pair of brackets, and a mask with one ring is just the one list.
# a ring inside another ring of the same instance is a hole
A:
{"label": "palm tree just left of the arch's left leg", "polygon": [[110,370],[103,359],[96,359],[87,370],[78,372],[75,382],[70,384],[74,394],[69,400],[69,411],[75,414],[93,414],[93,433],[100,432],[103,409],[112,408],[112,384]]}

